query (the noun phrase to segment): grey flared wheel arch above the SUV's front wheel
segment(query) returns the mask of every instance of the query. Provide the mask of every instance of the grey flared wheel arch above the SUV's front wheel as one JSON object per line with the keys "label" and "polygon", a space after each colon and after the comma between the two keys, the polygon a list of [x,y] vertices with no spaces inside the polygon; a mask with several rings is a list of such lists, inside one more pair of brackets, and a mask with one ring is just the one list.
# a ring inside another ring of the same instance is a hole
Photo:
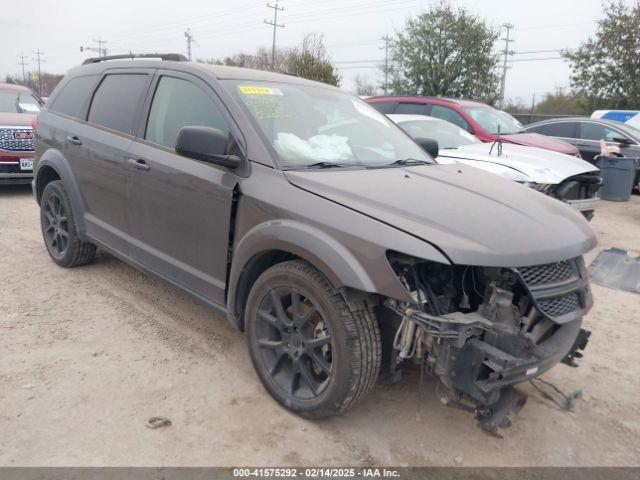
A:
{"label": "grey flared wheel arch above the SUV's front wheel", "polygon": [[317,268],[336,288],[375,291],[364,267],[340,242],[301,222],[272,221],[254,227],[235,248],[227,291],[227,315],[234,326],[244,330],[244,305],[260,274],[296,258]]}

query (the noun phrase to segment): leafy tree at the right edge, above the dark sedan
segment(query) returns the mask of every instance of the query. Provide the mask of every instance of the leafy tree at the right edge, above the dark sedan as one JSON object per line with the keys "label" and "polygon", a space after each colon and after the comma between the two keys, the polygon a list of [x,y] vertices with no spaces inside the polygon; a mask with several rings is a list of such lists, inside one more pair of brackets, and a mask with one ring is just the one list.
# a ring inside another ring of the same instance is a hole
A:
{"label": "leafy tree at the right edge, above the dark sedan", "polygon": [[640,3],[609,1],[595,37],[564,51],[571,63],[573,92],[590,109],[640,107]]}

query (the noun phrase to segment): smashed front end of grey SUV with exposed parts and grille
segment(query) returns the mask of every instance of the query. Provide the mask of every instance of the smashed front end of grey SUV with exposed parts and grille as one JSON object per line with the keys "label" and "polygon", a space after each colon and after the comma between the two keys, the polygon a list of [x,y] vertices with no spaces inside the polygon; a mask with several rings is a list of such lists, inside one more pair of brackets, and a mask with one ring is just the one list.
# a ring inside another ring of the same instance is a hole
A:
{"label": "smashed front end of grey SUV with exposed parts and grille", "polygon": [[521,268],[450,266],[389,253],[413,304],[397,314],[391,368],[413,361],[444,403],[474,411],[496,434],[526,396],[513,385],[560,361],[575,365],[592,296],[581,257]]}

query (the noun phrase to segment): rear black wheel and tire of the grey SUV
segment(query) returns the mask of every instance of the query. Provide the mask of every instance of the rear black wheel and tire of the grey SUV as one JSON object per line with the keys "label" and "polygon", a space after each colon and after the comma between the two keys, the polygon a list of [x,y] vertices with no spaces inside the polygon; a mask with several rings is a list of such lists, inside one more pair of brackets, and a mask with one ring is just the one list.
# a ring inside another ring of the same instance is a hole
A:
{"label": "rear black wheel and tire of the grey SUV", "polygon": [[60,180],[47,184],[40,201],[40,226],[49,255],[61,267],[77,267],[93,261],[96,246],[78,236],[69,195]]}

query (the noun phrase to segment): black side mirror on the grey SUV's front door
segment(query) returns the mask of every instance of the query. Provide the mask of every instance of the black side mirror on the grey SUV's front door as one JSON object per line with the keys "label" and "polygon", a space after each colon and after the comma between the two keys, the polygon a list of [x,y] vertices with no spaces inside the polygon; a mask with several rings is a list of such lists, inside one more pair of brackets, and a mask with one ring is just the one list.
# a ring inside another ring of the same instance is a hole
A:
{"label": "black side mirror on the grey SUV's front door", "polygon": [[242,163],[240,157],[227,155],[227,136],[217,128],[182,127],[176,139],[176,152],[232,170]]}

